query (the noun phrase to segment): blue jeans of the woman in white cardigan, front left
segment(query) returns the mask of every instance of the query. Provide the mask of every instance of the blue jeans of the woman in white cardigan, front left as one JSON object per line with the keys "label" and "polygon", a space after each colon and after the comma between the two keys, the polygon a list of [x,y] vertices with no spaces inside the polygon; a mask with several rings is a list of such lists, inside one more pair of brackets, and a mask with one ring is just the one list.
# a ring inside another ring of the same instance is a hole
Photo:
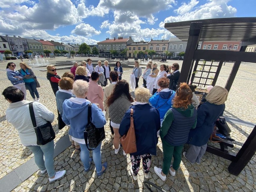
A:
{"label": "blue jeans of the woman in white cardigan, front left", "polygon": [[[54,142],[53,140],[45,145],[27,146],[35,155],[35,164],[39,169],[47,170],[48,176],[53,177],[55,170],[53,167]],[[45,160],[44,160],[45,157]]]}

